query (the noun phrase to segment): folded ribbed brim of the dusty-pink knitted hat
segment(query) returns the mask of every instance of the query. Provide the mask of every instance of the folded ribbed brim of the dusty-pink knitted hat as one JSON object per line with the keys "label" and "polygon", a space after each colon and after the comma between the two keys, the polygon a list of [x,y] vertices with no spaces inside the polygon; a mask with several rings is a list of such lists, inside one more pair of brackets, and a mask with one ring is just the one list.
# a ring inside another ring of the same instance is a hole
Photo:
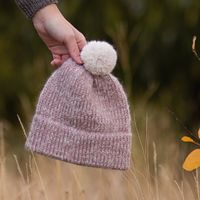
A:
{"label": "folded ribbed brim of the dusty-pink knitted hat", "polygon": [[84,132],[35,115],[25,147],[69,163],[126,170],[130,167],[131,133]]}

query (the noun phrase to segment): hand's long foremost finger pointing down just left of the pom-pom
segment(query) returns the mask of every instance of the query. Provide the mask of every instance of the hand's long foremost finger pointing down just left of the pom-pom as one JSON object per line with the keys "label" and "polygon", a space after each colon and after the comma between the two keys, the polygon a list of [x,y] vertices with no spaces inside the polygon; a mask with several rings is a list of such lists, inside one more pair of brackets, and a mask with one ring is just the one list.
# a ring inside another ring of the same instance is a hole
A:
{"label": "hand's long foremost finger pointing down just left of the pom-pom", "polygon": [[78,44],[76,42],[75,35],[73,33],[68,35],[67,37],[65,37],[64,44],[67,47],[69,54],[72,57],[72,59],[76,63],[82,64],[83,62],[80,58],[79,47],[78,47]]}

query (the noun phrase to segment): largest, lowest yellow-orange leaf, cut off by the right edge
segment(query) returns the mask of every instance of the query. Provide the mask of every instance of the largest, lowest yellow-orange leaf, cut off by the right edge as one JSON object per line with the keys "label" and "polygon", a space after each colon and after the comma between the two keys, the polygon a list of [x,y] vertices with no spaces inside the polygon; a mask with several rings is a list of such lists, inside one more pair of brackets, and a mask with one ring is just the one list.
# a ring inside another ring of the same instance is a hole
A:
{"label": "largest, lowest yellow-orange leaf, cut off by the right edge", "polygon": [[195,149],[185,159],[183,169],[192,171],[198,167],[200,167],[200,149]]}

